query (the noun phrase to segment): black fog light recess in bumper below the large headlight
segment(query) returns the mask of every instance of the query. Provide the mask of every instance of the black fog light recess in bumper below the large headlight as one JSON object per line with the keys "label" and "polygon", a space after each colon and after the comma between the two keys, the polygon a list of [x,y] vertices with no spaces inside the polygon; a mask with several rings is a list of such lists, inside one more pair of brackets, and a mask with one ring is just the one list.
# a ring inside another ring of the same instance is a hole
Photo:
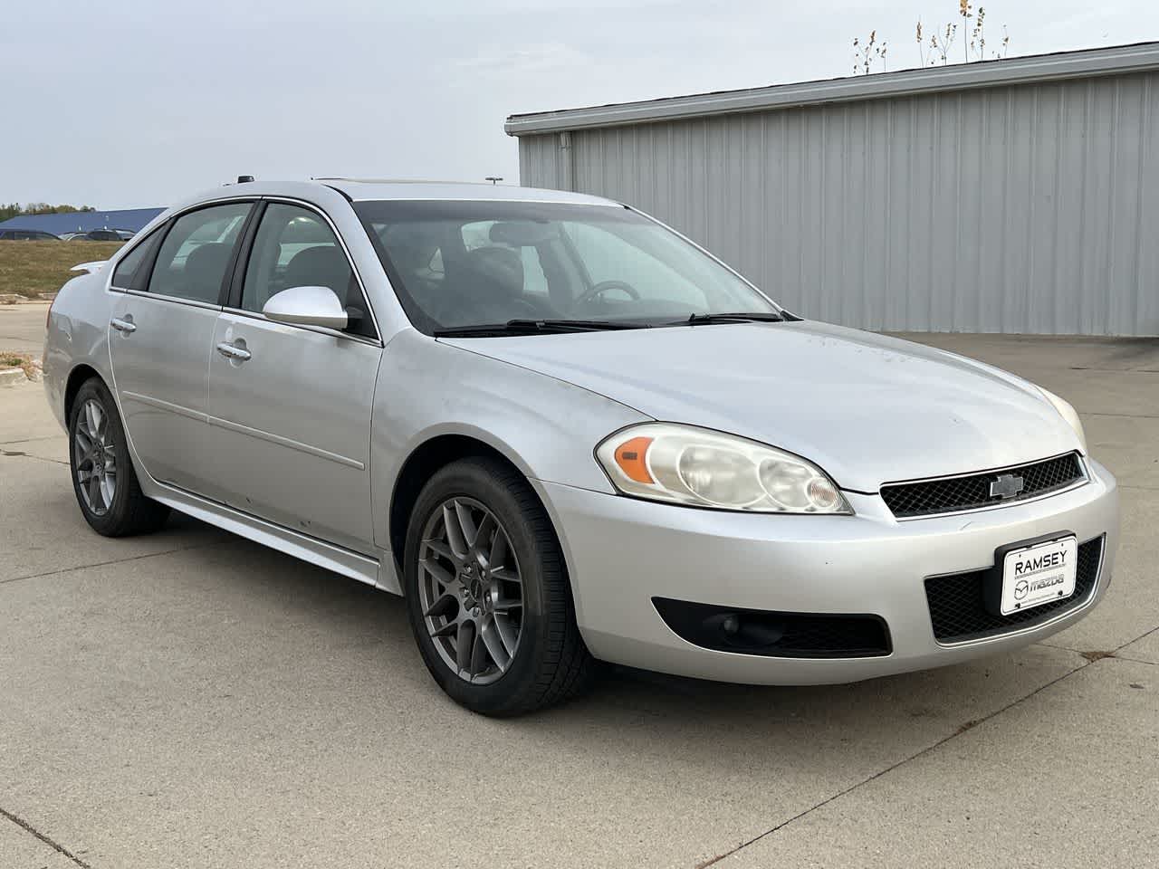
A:
{"label": "black fog light recess in bumper below the large headlight", "polygon": [[[779,613],[653,598],[664,622],[705,649],[782,658],[865,658],[889,655],[879,615]],[[732,620],[732,621],[729,621]]]}

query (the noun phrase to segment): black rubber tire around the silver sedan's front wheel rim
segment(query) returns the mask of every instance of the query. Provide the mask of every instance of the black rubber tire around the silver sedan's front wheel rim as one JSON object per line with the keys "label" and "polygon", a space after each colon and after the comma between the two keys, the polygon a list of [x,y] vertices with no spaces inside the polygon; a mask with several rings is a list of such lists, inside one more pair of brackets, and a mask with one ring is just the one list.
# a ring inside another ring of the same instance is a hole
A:
{"label": "black rubber tire around the silver sedan's front wheel rim", "polygon": [[[450,498],[465,497],[494,513],[523,576],[522,627],[508,669],[497,680],[471,684],[444,660],[430,636],[420,596],[423,530]],[[576,696],[595,679],[597,662],[580,636],[559,540],[527,481],[510,466],[469,458],[438,470],[410,514],[403,558],[410,627],[435,681],[457,703],[482,715],[522,715]]]}

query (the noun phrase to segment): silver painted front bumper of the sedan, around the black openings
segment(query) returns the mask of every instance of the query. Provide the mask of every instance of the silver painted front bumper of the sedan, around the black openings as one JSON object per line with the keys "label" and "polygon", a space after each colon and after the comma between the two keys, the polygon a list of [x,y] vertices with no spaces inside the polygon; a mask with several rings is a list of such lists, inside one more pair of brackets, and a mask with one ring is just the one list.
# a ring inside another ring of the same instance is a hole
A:
{"label": "silver painted front bumper of the sedan, around the black openings", "polygon": [[[731,513],[658,504],[537,481],[560,533],[576,618],[592,655],[680,676],[821,685],[954,664],[1032,643],[1081,619],[1106,592],[1118,546],[1115,479],[1087,461],[1086,485],[1041,501],[896,520],[881,497],[846,492],[855,516]],[[1071,531],[1106,535],[1085,604],[1032,627],[954,644],[934,638],[925,579],[986,569],[1004,545]],[[875,614],[888,655],[766,657],[677,636],[653,598],[792,613]]]}

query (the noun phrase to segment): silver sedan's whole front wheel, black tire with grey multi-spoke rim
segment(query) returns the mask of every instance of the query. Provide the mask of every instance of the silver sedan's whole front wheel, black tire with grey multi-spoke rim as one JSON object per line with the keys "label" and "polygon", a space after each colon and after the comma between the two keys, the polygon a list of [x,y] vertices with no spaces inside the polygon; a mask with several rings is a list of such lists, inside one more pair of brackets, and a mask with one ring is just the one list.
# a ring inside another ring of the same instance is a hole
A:
{"label": "silver sedan's whole front wheel, black tire with grey multi-spoke rim", "polygon": [[410,516],[403,580],[428,670],[468,709],[519,715],[591,682],[559,541],[512,468],[473,458],[431,477]]}

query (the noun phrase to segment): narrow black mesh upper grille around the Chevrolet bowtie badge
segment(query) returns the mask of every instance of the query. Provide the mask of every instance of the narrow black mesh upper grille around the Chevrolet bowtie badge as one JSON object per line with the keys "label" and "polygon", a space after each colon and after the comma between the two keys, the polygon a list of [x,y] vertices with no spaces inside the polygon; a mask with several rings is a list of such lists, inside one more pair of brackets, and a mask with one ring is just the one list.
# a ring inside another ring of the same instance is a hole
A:
{"label": "narrow black mesh upper grille around the Chevrolet bowtie badge", "polygon": [[[997,482],[999,476],[1006,475],[1021,477],[1022,490],[1014,497],[1007,498],[991,495],[990,484]],[[898,518],[933,516],[958,510],[977,510],[992,504],[1014,504],[1026,498],[1036,498],[1065,489],[1081,477],[1083,465],[1079,462],[1078,453],[1069,453],[1045,461],[1020,465],[1016,468],[883,485],[881,497]]]}

